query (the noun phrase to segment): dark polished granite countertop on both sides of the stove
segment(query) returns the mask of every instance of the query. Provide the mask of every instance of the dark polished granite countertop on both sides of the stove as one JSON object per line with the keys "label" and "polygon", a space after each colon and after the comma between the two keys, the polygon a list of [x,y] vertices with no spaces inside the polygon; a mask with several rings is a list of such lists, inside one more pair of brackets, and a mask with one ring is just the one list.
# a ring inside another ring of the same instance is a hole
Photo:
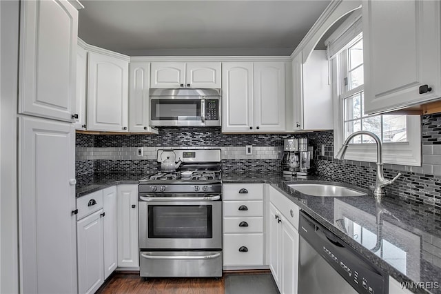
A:
{"label": "dark polished granite countertop on both sides of the stove", "polygon": [[[116,184],[137,184],[144,176],[143,173],[94,173],[77,177],[76,197]],[[332,179],[283,177],[272,173],[223,173],[225,184],[271,184],[398,282],[438,283],[441,287],[440,210],[433,207],[416,210],[409,200],[391,197],[384,197],[378,204],[370,193],[358,197],[304,195],[287,186],[289,182],[298,181],[332,182]],[[380,242],[377,242],[378,235],[382,235]],[[380,249],[376,250],[379,244]],[[410,290],[414,293],[441,293],[439,287],[429,291],[422,288]]]}

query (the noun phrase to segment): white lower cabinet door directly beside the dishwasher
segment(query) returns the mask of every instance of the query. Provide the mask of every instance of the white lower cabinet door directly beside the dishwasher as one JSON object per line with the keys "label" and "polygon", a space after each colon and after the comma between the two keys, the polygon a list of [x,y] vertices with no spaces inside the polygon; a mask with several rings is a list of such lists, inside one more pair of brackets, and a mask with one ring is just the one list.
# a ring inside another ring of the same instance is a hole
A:
{"label": "white lower cabinet door directly beside the dishwasher", "polygon": [[282,294],[297,293],[298,277],[298,231],[282,217],[281,256]]}

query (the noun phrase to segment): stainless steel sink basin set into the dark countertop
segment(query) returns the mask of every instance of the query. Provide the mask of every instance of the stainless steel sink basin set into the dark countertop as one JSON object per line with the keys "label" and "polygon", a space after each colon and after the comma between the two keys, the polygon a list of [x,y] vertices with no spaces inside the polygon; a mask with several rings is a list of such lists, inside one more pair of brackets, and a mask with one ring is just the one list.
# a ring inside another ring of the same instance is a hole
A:
{"label": "stainless steel sink basin set into the dark countertop", "polygon": [[362,196],[367,193],[353,190],[344,186],[335,184],[305,184],[305,183],[290,183],[287,184],[289,188],[297,190],[300,193],[320,196],[320,197],[347,197],[347,196]]}

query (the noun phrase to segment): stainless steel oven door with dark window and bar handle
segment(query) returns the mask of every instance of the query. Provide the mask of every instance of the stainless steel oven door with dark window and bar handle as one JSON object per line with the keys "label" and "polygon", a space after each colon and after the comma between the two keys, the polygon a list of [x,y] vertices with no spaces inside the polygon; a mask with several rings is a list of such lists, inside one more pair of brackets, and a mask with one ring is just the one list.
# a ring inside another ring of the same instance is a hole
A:
{"label": "stainless steel oven door with dark window and bar handle", "polygon": [[222,248],[222,202],[140,200],[139,248]]}

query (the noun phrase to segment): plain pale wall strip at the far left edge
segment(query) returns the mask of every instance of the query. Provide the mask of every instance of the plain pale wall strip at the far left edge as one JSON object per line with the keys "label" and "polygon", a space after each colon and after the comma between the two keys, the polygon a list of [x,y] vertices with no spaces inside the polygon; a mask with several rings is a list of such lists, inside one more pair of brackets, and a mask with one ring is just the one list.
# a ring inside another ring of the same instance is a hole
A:
{"label": "plain pale wall strip at the far left edge", "polygon": [[19,1],[0,1],[0,293],[19,293],[18,58]]}

